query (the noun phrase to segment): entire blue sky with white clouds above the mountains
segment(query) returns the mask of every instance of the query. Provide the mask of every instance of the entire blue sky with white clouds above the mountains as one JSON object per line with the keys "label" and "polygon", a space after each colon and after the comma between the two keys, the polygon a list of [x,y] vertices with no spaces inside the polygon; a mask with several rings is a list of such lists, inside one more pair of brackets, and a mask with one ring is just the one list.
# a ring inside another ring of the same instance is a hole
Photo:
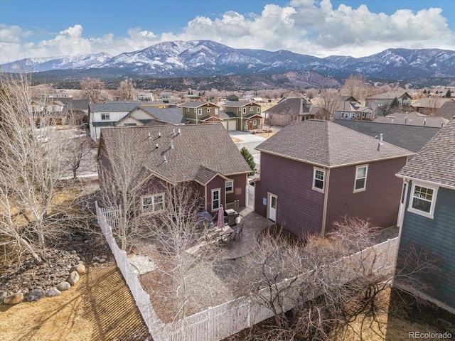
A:
{"label": "entire blue sky with white clouds above the mountains", "polygon": [[319,57],[455,50],[455,1],[0,0],[2,63],[198,39]]}

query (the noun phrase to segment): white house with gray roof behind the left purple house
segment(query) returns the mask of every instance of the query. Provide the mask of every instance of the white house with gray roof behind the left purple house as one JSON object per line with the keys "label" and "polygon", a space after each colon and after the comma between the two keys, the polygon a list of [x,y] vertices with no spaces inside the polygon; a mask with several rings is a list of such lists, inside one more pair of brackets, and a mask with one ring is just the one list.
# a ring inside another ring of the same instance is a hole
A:
{"label": "white house with gray roof behind the left purple house", "polygon": [[107,126],[142,126],[158,122],[184,124],[181,110],[145,105],[141,102],[106,102],[90,103],[89,123],[90,136],[93,140],[100,139],[101,129]]}

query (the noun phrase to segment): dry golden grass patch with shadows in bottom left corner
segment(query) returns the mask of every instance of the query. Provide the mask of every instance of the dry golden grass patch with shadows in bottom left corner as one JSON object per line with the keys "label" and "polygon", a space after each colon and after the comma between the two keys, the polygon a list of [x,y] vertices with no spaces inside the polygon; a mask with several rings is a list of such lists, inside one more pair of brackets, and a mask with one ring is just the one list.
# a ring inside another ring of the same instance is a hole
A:
{"label": "dry golden grass patch with shadows in bottom left corner", "polygon": [[61,296],[0,305],[0,340],[151,340],[122,274],[97,266]]}

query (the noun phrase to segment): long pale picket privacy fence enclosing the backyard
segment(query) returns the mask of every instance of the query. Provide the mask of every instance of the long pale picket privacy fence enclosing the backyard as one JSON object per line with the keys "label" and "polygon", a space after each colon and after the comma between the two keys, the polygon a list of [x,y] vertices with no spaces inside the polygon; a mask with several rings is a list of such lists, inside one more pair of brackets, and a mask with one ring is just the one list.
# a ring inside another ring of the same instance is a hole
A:
{"label": "long pale picket privacy fence enclosing the backyard", "polygon": [[[235,300],[209,307],[200,313],[196,313],[173,323],[163,323],[155,313],[150,302],[149,294],[144,291],[139,282],[137,274],[130,266],[127,259],[127,253],[117,246],[112,236],[112,228],[108,222],[115,224],[117,222],[115,215],[117,210],[109,210],[98,207],[97,210],[98,224],[105,234],[107,243],[114,254],[122,275],[132,292],[134,301],[141,312],[144,322],[149,328],[149,332],[155,341],[200,341],[200,340],[222,340],[236,332],[259,323],[273,316],[272,310],[261,303],[260,298],[269,298],[269,289],[263,288],[258,295],[242,296]],[[107,218],[109,217],[109,218]],[[347,283],[358,276],[359,271],[368,274],[374,272],[377,274],[387,274],[393,271],[395,266],[395,256],[398,248],[398,237],[389,239],[386,242],[375,245],[363,251],[357,252],[351,256],[340,259],[335,266],[343,269],[338,274],[336,280],[339,283]],[[343,262],[343,266],[340,266]],[[348,271],[344,271],[348,269]],[[330,269],[329,269],[330,271]],[[298,278],[285,279],[274,286],[274,291],[282,291],[282,297],[279,298],[277,308],[282,311],[294,308],[294,297],[299,295],[299,283],[301,275]],[[289,284],[292,281],[293,283]],[[315,298],[319,295],[318,291],[308,292],[308,299]]]}

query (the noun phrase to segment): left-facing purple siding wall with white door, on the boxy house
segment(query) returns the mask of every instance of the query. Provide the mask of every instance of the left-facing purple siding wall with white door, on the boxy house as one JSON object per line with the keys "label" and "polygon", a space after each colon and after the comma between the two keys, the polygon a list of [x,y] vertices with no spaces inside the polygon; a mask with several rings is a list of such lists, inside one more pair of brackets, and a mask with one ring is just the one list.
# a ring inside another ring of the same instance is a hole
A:
{"label": "left-facing purple siding wall with white door, on the boxy house", "polygon": [[296,235],[321,233],[324,194],[312,190],[313,166],[261,152],[261,178],[255,186],[255,211],[267,217],[263,198],[277,195],[277,223]]}

